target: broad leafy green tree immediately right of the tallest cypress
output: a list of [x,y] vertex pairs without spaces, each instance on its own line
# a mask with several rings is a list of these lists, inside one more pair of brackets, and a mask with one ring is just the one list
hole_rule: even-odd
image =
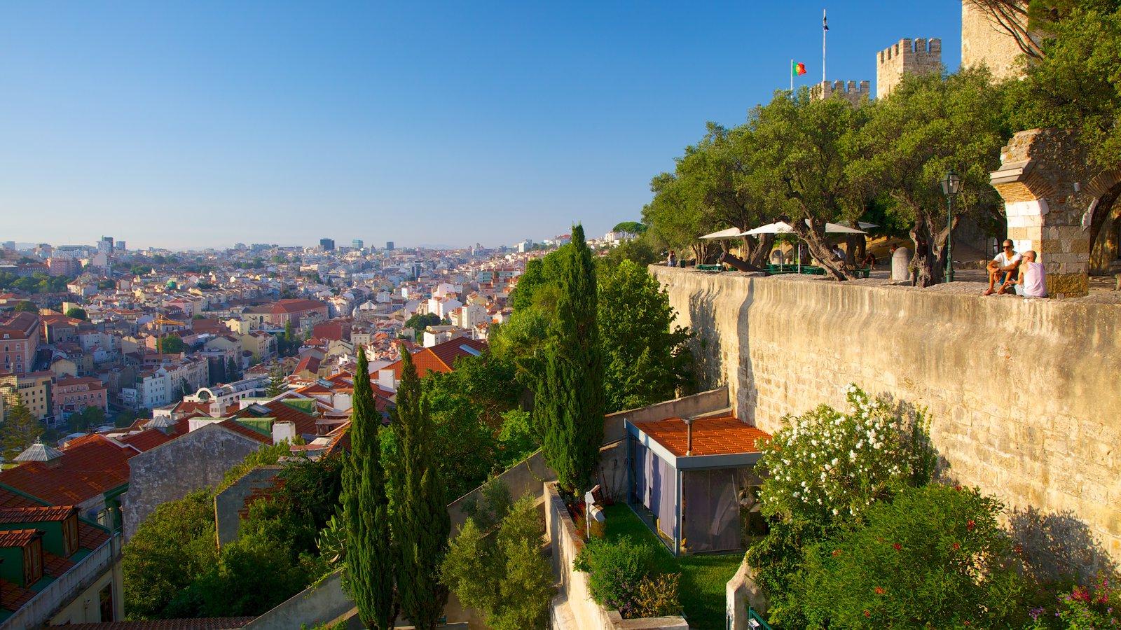
[[669,296],[646,268],[601,267],[597,311],[608,413],[669,400],[692,385],[688,330],[674,325]]

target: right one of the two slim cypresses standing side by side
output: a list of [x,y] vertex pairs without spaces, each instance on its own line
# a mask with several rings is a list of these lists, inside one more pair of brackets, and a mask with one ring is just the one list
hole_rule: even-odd
[[447,552],[452,522],[433,452],[432,417],[421,398],[420,377],[405,348],[393,420],[399,450],[392,488],[397,591],[405,617],[418,629],[427,630],[436,627],[447,603],[439,566]]

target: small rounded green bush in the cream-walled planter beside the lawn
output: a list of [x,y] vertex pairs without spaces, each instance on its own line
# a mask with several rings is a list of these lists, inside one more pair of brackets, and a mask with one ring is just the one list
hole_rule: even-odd
[[642,580],[657,568],[657,549],[624,536],[613,543],[591,539],[576,554],[573,568],[587,574],[587,590],[596,603],[624,618],[637,617],[636,602]]

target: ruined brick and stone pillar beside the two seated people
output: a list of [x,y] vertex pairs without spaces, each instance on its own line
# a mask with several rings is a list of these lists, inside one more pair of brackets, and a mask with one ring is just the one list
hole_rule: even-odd
[[1008,238],[1016,251],[1035,250],[1047,271],[1047,294],[1077,297],[1088,291],[1091,230],[1097,198],[1096,172],[1067,130],[1020,131],[1000,151],[991,182],[1004,200]]

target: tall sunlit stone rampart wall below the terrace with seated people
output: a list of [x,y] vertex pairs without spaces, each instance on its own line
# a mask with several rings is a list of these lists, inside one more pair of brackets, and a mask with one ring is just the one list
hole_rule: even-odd
[[1121,560],[1121,295],[651,270],[741,419],[775,432],[850,382],[925,407],[948,474],[1012,509],[1029,560]]

